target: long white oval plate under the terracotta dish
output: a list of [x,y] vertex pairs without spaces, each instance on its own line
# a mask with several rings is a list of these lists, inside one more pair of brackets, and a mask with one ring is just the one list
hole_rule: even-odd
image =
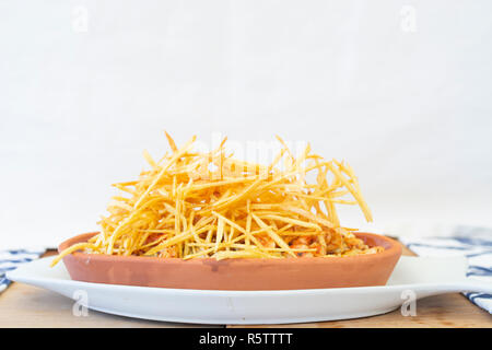
[[[40,287],[96,311],[194,324],[290,324],[378,315],[403,302],[492,285],[467,279],[464,257],[401,257],[387,285],[293,291],[207,291],[72,281],[52,257],[22,265],[8,278]],[[294,277],[293,277],[294,278]]]

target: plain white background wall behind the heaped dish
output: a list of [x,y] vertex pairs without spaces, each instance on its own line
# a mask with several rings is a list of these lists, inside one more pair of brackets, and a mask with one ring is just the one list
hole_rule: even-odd
[[[373,230],[492,225],[492,2],[0,0],[0,248],[96,221],[147,149],[347,160]],[[364,226],[354,209],[347,223]]]

